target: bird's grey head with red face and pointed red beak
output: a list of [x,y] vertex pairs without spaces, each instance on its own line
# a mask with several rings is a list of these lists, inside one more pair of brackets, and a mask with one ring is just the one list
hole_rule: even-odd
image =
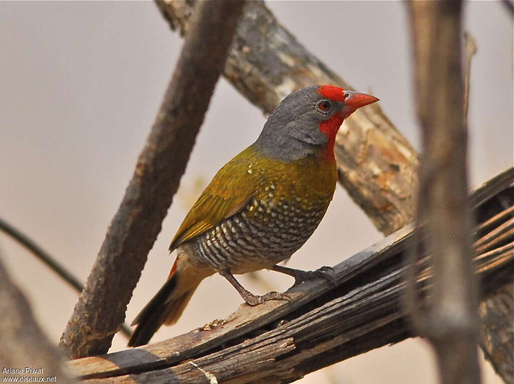
[[288,95],[273,110],[253,144],[263,156],[293,161],[327,152],[334,157],[336,133],[357,108],[378,101],[364,93],[315,85]]

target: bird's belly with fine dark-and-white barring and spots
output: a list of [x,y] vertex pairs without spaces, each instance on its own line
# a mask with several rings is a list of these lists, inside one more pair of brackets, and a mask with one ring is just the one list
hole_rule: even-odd
[[242,274],[270,268],[295,253],[323,218],[332,193],[322,196],[276,196],[263,188],[237,214],[191,242],[196,256],[216,271]]

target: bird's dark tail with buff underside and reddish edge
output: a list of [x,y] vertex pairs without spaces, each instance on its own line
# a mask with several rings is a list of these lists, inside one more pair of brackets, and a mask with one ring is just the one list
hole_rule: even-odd
[[205,277],[191,273],[191,267],[185,268],[184,264],[187,262],[180,263],[177,257],[166,283],[136,316],[131,325],[137,324],[137,327],[128,340],[128,347],[148,344],[162,324],[172,325],[177,322]]

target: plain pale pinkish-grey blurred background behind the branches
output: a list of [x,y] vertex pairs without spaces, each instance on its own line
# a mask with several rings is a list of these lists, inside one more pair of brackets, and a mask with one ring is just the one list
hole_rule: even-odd
[[[267,5],[329,68],[356,90],[380,98],[384,112],[419,149],[405,3]],[[478,44],[469,106],[470,180],[478,186],[513,161],[512,20],[501,2],[467,2],[464,25]],[[153,2],[0,3],[0,216],[83,281],[132,177],[181,45]],[[166,279],[174,260],[167,251],[170,240],[201,189],[256,139],[264,122],[258,109],[219,81],[180,190],[128,305],[127,322]],[[334,265],[381,238],[338,186],[317,232],[288,265],[305,270]],[[2,234],[0,253],[57,343],[77,294]],[[292,284],[285,275],[260,276],[275,290]],[[240,281],[253,293],[267,290],[247,276]],[[224,318],[241,302],[230,284],[213,276],[200,285],[179,322],[162,328],[153,341]],[[116,336],[111,351],[125,343]],[[483,374],[485,383],[501,382],[487,363]],[[435,380],[429,346],[410,339],[299,382]]]

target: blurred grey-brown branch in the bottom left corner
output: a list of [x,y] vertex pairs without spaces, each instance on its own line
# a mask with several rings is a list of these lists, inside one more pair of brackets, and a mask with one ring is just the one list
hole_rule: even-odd
[[[30,305],[9,278],[0,262],[0,369],[2,377],[53,377],[60,383],[74,382],[64,369],[64,358],[36,322]],[[25,372],[43,368],[43,372]],[[22,369],[16,374],[4,369]]]

